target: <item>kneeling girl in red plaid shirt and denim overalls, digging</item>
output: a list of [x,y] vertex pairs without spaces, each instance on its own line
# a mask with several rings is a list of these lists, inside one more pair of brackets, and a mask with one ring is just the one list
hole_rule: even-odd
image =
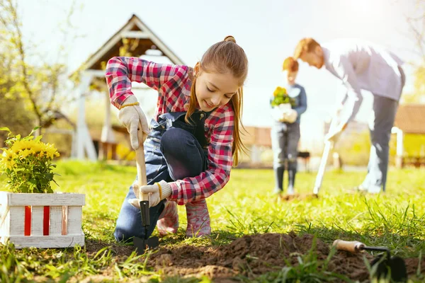
[[[229,180],[232,164],[237,164],[243,148],[242,86],[248,60],[234,37],[215,43],[194,68],[156,64],[135,57],[114,57],[106,67],[111,103],[130,132],[137,149],[137,126],[147,133],[145,161],[150,193],[151,224],[160,235],[176,233],[179,227],[177,204],[186,205],[187,236],[211,233],[205,198],[222,189]],[[137,81],[158,91],[157,109],[150,123],[132,94]],[[115,239],[149,237],[154,225],[144,231],[138,208],[138,187],[130,186],[115,227]]]

